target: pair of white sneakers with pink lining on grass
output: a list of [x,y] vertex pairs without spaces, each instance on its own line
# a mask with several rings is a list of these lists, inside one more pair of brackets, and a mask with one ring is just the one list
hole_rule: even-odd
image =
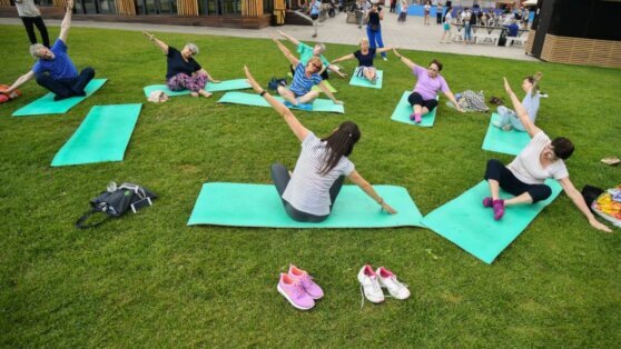
[[361,282],[362,306],[364,306],[364,298],[373,303],[381,303],[385,297],[383,288],[387,289],[391,297],[405,300],[410,298],[410,290],[407,285],[397,280],[397,277],[384,267],[377,268],[376,271],[373,267],[366,265],[362,267],[358,272],[358,281]]

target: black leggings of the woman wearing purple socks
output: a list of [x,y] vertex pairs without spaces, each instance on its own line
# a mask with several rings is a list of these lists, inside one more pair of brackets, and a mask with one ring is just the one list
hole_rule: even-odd
[[526,185],[522,182],[499,160],[492,159],[487,161],[485,180],[490,179],[496,180],[504,191],[513,196],[528,192],[533,199],[533,203],[545,200],[552,195],[552,189],[545,185]]

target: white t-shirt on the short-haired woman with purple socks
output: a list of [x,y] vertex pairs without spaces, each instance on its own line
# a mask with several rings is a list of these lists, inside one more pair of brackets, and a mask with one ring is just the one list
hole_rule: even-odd
[[506,168],[526,185],[542,185],[548,178],[569,177],[568,168],[562,159],[550,163],[545,169],[541,167],[539,156],[550,142],[550,137],[540,131]]

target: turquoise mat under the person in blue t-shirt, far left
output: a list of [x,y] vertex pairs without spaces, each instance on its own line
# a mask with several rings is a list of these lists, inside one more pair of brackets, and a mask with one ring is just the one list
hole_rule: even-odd
[[28,117],[28,116],[41,116],[47,113],[66,113],[69,109],[73,108],[76,104],[82,100],[90,97],[97,90],[99,90],[108,79],[92,79],[85,88],[87,96],[83,97],[71,97],[63,100],[55,101],[55,94],[49,92],[48,94],[34,100],[13,112],[13,117]]

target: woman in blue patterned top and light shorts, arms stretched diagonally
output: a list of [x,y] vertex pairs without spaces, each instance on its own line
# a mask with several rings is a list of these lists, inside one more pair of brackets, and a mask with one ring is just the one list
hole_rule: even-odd
[[[277,39],[273,38],[277,46],[284,44]],[[283,53],[289,60],[293,67],[295,67],[295,73],[292,84],[287,88],[282,83],[278,83],[276,91],[280,97],[285,99],[287,107],[295,106],[300,109],[310,110],[312,103],[317,97],[319,97],[318,91],[313,91],[313,86],[319,87],[319,89],[326,93],[326,96],[332,99],[335,104],[343,104],[342,101],[334,98],[334,94],[322,81],[319,71],[322,71],[322,60],[318,57],[310,57],[308,62],[303,63],[297,57],[293,56],[292,52],[284,47]]]

